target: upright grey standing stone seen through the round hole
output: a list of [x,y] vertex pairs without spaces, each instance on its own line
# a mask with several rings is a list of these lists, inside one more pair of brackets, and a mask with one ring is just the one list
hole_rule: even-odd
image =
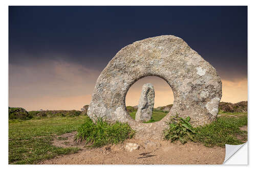
[[147,122],[151,119],[155,100],[155,90],[151,83],[142,86],[138,110],[135,120],[138,122]]

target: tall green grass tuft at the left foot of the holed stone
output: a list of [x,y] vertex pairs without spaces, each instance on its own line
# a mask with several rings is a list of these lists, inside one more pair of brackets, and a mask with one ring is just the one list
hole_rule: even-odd
[[86,116],[84,124],[78,128],[76,140],[85,140],[88,147],[101,147],[105,144],[122,142],[132,138],[135,131],[127,124],[114,124],[103,121],[101,118],[95,123]]

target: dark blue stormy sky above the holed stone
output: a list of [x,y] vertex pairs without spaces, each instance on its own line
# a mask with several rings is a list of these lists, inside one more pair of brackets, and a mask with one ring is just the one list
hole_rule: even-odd
[[[10,98],[16,98],[14,89],[38,82],[40,76],[54,81],[53,61],[98,71],[97,80],[122,47],[160,35],[182,38],[223,80],[247,79],[247,7],[10,6]],[[22,66],[28,70],[20,74]],[[40,66],[46,71],[43,76]]]

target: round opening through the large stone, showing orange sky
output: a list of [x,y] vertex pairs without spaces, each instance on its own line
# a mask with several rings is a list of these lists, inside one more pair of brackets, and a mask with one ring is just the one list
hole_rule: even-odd
[[[154,91],[155,91],[155,98],[153,100],[154,109],[153,109],[152,115],[150,116],[151,117],[150,120],[148,120],[149,118],[147,117],[147,119],[143,118],[142,120],[139,121],[138,117],[136,118],[136,113],[138,109],[140,109],[138,108],[140,107],[138,105],[139,105],[141,95],[143,95],[141,94],[143,85],[147,83],[151,83],[154,87]],[[136,119],[136,121],[139,121],[142,123],[153,123],[161,120],[169,112],[170,108],[173,105],[173,102],[174,102],[174,94],[173,94],[172,88],[168,85],[168,83],[164,79],[157,76],[147,76],[139,79],[129,88],[125,96],[125,107],[127,109],[127,112],[130,114],[130,116],[133,119]],[[145,109],[143,108],[143,106],[141,108],[142,108],[141,110]]]

